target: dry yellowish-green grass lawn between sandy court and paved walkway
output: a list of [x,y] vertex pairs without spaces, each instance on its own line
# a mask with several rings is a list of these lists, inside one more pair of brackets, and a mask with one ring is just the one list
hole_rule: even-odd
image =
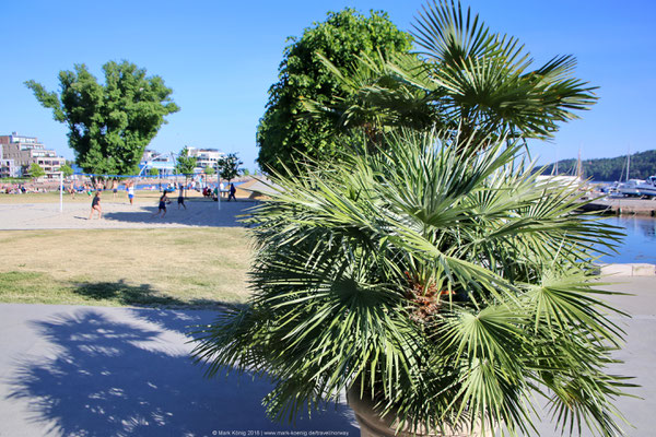
[[0,302],[214,307],[244,303],[244,228],[0,233]]

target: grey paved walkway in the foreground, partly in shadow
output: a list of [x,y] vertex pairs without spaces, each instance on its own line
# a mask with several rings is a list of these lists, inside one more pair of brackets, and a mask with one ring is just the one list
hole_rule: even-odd
[[[656,281],[612,282],[610,288],[636,295],[609,300],[633,316],[621,321],[628,342],[618,357],[626,363],[617,370],[635,376],[642,387],[632,393],[644,398],[618,404],[635,425],[628,436],[651,436]],[[260,404],[267,381],[235,375],[204,379],[190,362],[185,333],[213,317],[212,311],[0,305],[0,436],[359,435],[343,404],[295,427],[276,425]],[[539,429],[542,436],[560,435],[548,423]]]

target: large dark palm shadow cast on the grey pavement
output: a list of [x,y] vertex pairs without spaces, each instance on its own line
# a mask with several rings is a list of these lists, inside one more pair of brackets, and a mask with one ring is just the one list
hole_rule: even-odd
[[273,424],[260,403],[271,389],[267,382],[234,376],[206,379],[179,332],[184,326],[209,322],[215,312],[189,312],[184,318],[150,309],[77,308],[33,321],[31,329],[55,349],[15,363],[5,402],[24,402],[28,421],[45,426],[44,434],[66,436],[291,429],[358,435],[352,413],[343,405],[312,421],[302,417],[295,427]]

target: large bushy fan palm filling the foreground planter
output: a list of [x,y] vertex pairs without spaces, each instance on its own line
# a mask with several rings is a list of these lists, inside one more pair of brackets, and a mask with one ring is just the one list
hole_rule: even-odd
[[622,331],[591,262],[621,234],[576,212],[579,187],[537,182],[519,144],[458,152],[471,141],[401,130],[274,176],[247,220],[254,295],[195,350],[209,375],[268,375],[279,420],[347,389],[408,429],[530,432],[537,394],[563,432],[619,435]]

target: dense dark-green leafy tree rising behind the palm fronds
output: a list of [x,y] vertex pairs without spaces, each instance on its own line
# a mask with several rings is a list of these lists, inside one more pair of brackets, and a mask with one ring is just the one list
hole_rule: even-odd
[[263,170],[294,168],[305,155],[329,160],[340,147],[329,118],[301,117],[305,99],[321,105],[335,103],[348,92],[320,62],[323,54],[338,67],[345,67],[361,54],[406,52],[411,37],[399,31],[384,12],[364,16],[352,9],[328,13],[301,38],[290,38],[279,68],[279,81],[269,90],[269,102],[257,128],[258,163]]

